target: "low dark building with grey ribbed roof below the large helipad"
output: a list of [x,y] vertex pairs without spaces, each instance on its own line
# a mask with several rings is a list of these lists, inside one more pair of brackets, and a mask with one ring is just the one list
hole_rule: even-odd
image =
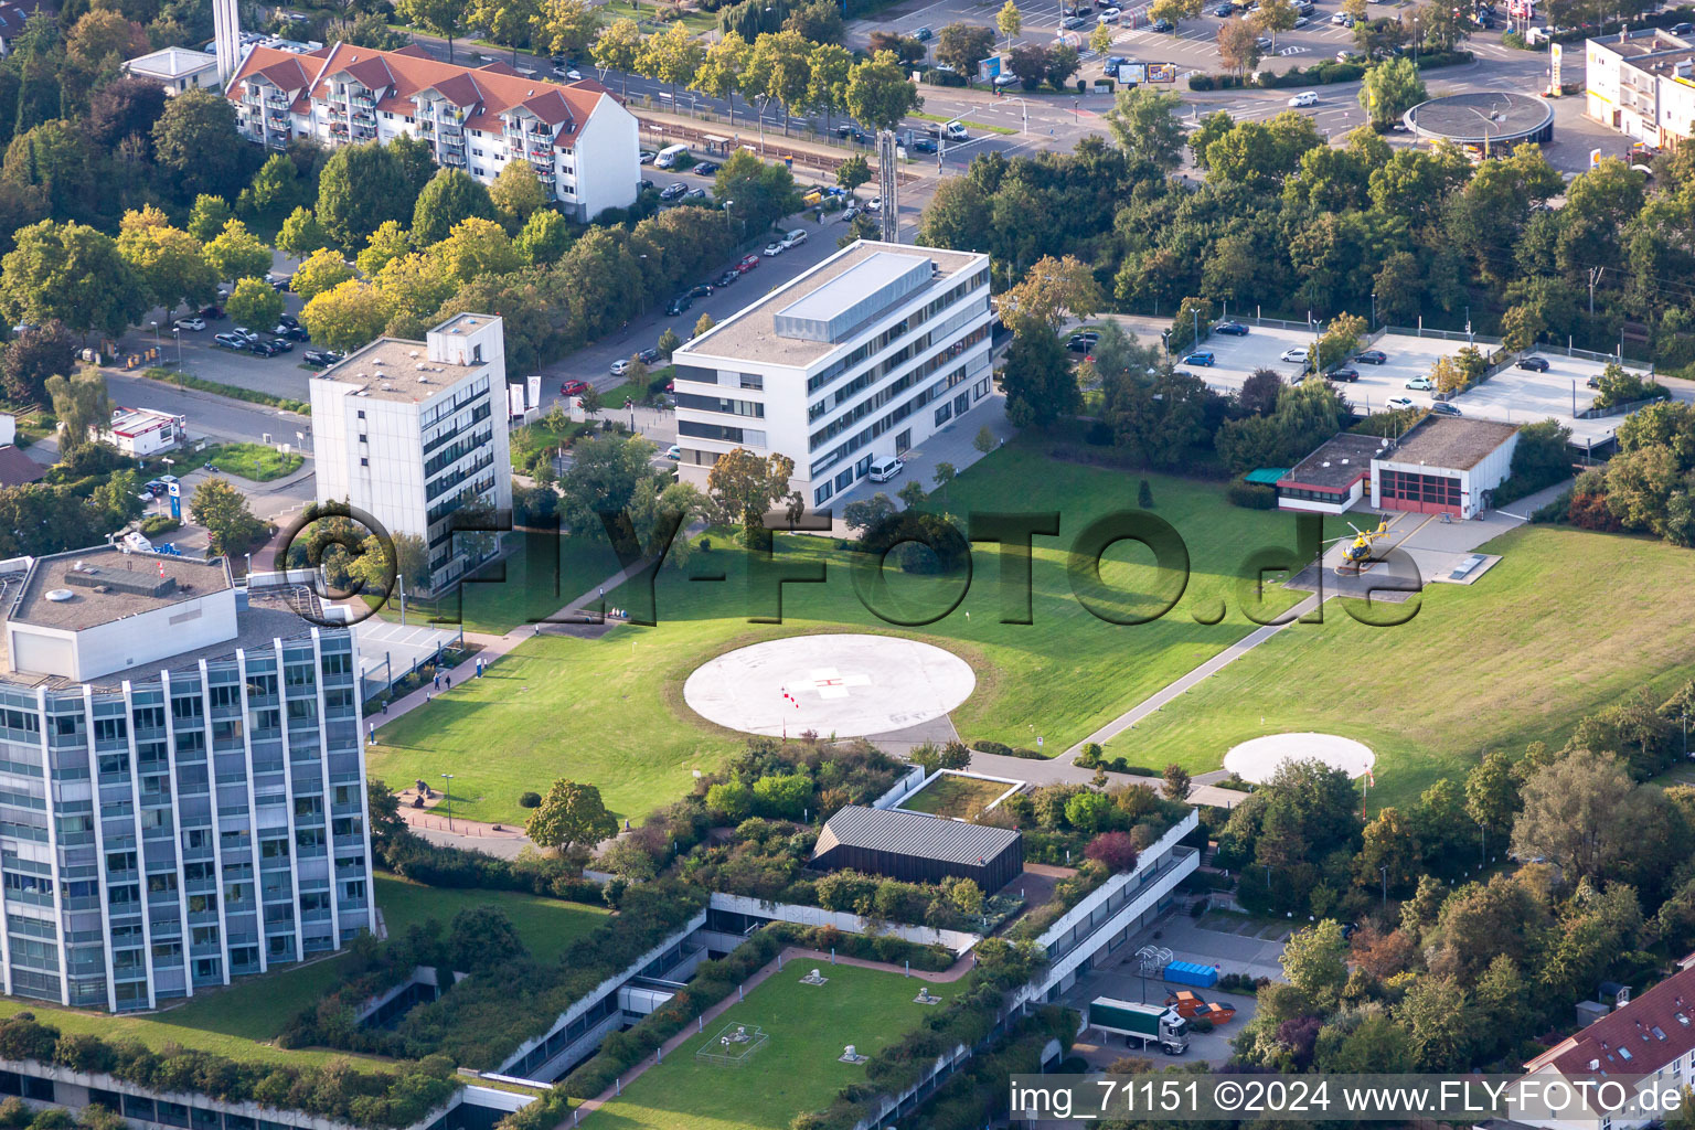
[[1024,837],[1014,828],[848,805],[824,823],[812,866],[851,867],[909,883],[959,876],[993,895],[1024,871]]

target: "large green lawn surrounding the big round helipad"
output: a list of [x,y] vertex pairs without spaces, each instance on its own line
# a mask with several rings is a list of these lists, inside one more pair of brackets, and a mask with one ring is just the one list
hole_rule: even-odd
[[[598,640],[525,640],[483,679],[456,683],[432,705],[383,727],[370,751],[371,773],[390,783],[453,773],[454,810],[475,820],[520,822],[519,795],[542,791],[561,776],[598,784],[615,813],[641,817],[681,796],[693,784],[693,769],[720,766],[741,744],[681,701],[681,684],[697,666],[744,644],[842,627],[922,639],[966,659],[978,684],[954,712],[954,723],[968,740],[1034,747],[1041,735],[1044,749],[1059,752],[1253,630],[1241,615],[1237,574],[1256,549],[1293,546],[1290,515],[1231,507],[1222,485],[1148,476],[1154,513],[1188,544],[1190,579],[1163,618],[1139,625],[1100,620],[1071,591],[1068,549],[1095,518],[1134,510],[1139,478],[1053,463],[1039,449],[1009,444],[953,483],[939,505],[954,515],[1061,513],[1059,537],[1036,539],[1029,625],[1000,623],[993,544],[976,547],[975,576],[958,608],[927,627],[902,629],[861,605],[849,554],[812,535],[780,537],[776,564],[822,568],[825,583],[785,584],[783,622],[753,623],[749,617],[776,612],[771,566],[759,562],[751,586],[747,556],[714,534],[712,551],[697,552],[686,573],[661,574],[656,627],[624,625]],[[1139,544],[1117,542],[1105,554],[1102,576],[1119,595],[1102,603],[1119,615],[1156,610],[1159,601],[1151,595],[1164,581],[1151,562]],[[614,568],[602,557],[600,576]],[[531,566],[508,566],[512,579],[488,586],[490,593],[468,591],[468,625],[563,603],[551,591],[539,600],[537,586],[524,583],[525,569]],[[688,579],[705,573],[725,579]],[[593,574],[588,569],[563,588],[575,596],[593,588]],[[902,610],[903,618],[934,615],[956,590],[956,581],[892,569],[880,608]],[[1168,596],[1171,591],[1175,586],[1166,588]],[[1273,590],[1270,600],[1287,607],[1290,598]],[[641,607],[629,593],[609,593],[607,601]],[[1222,622],[1203,623],[1219,615]]]

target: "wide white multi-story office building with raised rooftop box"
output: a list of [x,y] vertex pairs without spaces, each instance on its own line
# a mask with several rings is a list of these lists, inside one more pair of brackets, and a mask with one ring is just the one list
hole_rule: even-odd
[[990,390],[988,256],[859,241],[676,351],[685,481],[744,447],[822,507]]

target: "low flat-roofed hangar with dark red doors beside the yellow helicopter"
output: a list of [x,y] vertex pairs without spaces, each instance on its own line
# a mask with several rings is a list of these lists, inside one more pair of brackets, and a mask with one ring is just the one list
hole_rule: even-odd
[[1371,505],[1378,510],[1473,518],[1512,474],[1519,427],[1498,420],[1424,417],[1371,459]]

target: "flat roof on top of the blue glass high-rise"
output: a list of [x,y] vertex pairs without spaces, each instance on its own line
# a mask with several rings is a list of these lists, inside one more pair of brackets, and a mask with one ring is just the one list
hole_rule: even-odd
[[[7,620],[81,632],[232,586],[222,557],[76,549],[36,559]],[[69,593],[69,600],[51,600],[49,593]]]

